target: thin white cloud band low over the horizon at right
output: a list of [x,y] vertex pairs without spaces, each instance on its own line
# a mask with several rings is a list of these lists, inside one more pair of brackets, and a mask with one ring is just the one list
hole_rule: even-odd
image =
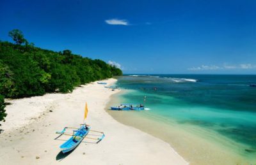
[[192,67],[188,68],[189,71],[202,71],[202,70],[218,70],[218,69],[255,69],[256,65],[252,64],[239,64],[239,65],[228,65],[228,64],[223,64],[223,66],[216,66],[216,65],[202,65],[198,67]]

